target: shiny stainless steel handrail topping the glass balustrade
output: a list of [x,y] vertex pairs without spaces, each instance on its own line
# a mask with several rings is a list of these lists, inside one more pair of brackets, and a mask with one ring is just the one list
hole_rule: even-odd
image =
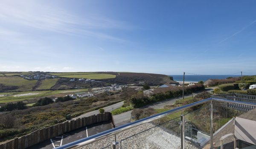
[[145,118],[143,118],[141,120],[137,120],[137,121],[134,121],[134,122],[131,122],[131,123],[128,123],[128,124],[125,124],[125,125],[122,125],[122,126],[110,129],[110,130],[107,130],[105,132],[101,132],[101,133],[98,133],[96,135],[92,135],[92,136],[87,137],[87,138],[76,140],[74,142],[65,144],[63,146],[56,147],[55,149],[76,149],[76,148],[85,146],[87,144],[93,143],[95,141],[102,140],[102,139],[107,138],[107,137],[109,137],[111,135],[116,135],[116,134],[118,134],[120,132],[123,132],[123,131],[125,131],[127,129],[131,129],[131,128],[135,127],[135,126],[139,126],[139,125],[142,125],[144,123],[148,123],[148,122],[151,122],[153,120],[157,120],[157,119],[159,119],[161,117],[164,117],[166,115],[169,115],[169,114],[172,114],[172,113],[175,113],[175,112],[179,112],[179,111],[191,108],[193,106],[197,106],[197,105],[200,105],[202,103],[206,103],[208,101],[219,101],[219,102],[227,102],[227,103],[239,103],[239,104],[243,104],[243,105],[253,105],[253,106],[256,106],[256,103],[247,103],[247,102],[241,102],[241,101],[226,100],[226,99],[218,98],[218,97],[211,97],[211,98],[207,98],[207,99],[204,99],[204,100],[200,100],[200,101],[195,102],[195,103],[187,104],[185,106],[180,106],[180,107],[177,107],[175,109],[168,110],[166,112],[162,112],[162,113],[159,113],[159,114],[156,114],[156,115],[145,117]]

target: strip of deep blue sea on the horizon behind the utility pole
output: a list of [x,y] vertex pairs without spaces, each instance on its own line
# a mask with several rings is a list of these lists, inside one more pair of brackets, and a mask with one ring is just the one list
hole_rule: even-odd
[[[183,75],[169,75],[175,81],[183,81]],[[185,81],[198,82],[200,80],[206,81],[208,79],[226,79],[227,77],[240,77],[241,75],[189,75],[185,74]]]

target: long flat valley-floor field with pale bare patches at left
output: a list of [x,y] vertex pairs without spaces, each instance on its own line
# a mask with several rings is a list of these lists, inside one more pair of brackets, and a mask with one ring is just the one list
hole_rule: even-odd
[[[88,89],[70,89],[70,90],[58,90],[58,91],[31,91],[31,92],[15,92],[15,93],[1,93],[0,95],[9,95],[0,97],[0,103],[17,102],[22,100],[29,100],[38,97],[45,97],[50,95],[62,94],[62,93],[76,93],[76,92],[88,92]],[[31,95],[25,95],[31,94]],[[17,96],[24,95],[24,96]]]

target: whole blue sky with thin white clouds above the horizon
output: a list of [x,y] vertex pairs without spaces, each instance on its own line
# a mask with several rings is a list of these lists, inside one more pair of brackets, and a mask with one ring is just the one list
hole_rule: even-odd
[[2,0],[0,71],[256,72],[255,0]]

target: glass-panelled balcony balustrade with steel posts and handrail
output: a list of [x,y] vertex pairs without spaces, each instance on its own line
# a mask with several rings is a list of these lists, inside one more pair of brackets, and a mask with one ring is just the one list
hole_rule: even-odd
[[[255,101],[256,96],[249,95],[212,96],[56,149],[253,149],[256,148]],[[241,115],[222,125],[216,114],[221,110]],[[180,117],[170,119],[169,115],[177,112]],[[205,116],[201,120],[194,121],[193,117],[202,114]],[[201,130],[196,128],[197,124],[202,124]]]

